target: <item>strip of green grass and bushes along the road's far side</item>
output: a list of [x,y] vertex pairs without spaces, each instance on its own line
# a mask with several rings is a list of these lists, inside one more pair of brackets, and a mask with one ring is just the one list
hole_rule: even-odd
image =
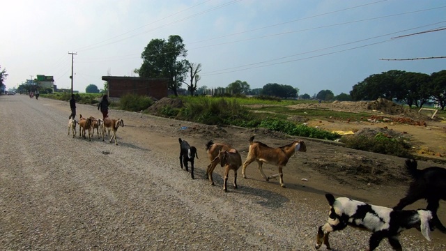
[[[95,104],[100,100],[101,94],[77,93],[79,103]],[[43,95],[58,100],[70,99],[70,93],[54,93]],[[289,105],[302,103],[316,103],[317,100],[276,100],[274,98],[245,98],[233,97],[206,97],[206,96],[178,96],[170,97],[183,102],[183,107],[163,106],[157,111],[157,116],[171,119],[193,121],[206,125],[240,126],[243,128],[266,128],[287,135],[298,137],[311,137],[315,139],[337,140],[351,149],[371,151],[399,157],[410,158],[410,144],[403,139],[385,137],[382,133],[374,137],[341,137],[341,135],[312,128],[305,125],[305,121],[294,122],[289,120],[293,116],[302,116],[311,119],[351,119],[360,121],[369,116],[367,113],[336,112],[328,109],[291,109]],[[116,109],[132,112],[146,112],[155,102],[148,97],[128,94],[119,101],[112,102]],[[148,112],[146,112],[148,113]],[[438,111],[438,116],[446,116],[445,111]]]

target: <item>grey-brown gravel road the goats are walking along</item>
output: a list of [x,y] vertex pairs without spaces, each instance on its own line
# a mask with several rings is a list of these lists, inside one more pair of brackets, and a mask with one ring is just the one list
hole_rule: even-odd
[[[151,146],[169,134],[163,119],[143,115],[151,130],[139,135],[141,114],[112,110],[125,122],[115,146],[68,136],[69,114],[68,102],[0,96],[0,250],[314,250],[325,199],[243,180],[241,170],[239,189],[230,174],[225,193],[221,170],[216,186],[180,170],[178,141],[170,152]],[[90,105],[79,114],[100,116]],[[331,245],[366,250],[369,236],[348,228]],[[400,239],[404,250],[445,250],[415,229]]]

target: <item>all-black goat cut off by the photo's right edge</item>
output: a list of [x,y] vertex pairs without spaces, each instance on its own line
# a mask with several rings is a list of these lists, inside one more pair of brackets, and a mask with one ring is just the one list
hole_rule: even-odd
[[438,219],[437,211],[440,199],[446,200],[446,169],[441,167],[427,167],[417,169],[416,160],[406,160],[404,163],[414,181],[410,183],[406,197],[401,199],[394,209],[401,210],[419,199],[427,200],[426,210],[432,212],[433,227],[437,227],[446,234],[446,228]]

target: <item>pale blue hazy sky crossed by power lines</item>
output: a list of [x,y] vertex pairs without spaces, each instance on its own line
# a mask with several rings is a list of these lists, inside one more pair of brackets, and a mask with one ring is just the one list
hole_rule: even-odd
[[102,76],[137,77],[148,43],[171,35],[183,38],[185,59],[201,63],[199,87],[241,80],[251,89],[277,83],[300,95],[339,95],[388,70],[446,69],[446,59],[420,59],[446,56],[444,0],[0,0],[0,6],[6,89],[36,75],[70,89],[72,67],[75,90],[103,89]]

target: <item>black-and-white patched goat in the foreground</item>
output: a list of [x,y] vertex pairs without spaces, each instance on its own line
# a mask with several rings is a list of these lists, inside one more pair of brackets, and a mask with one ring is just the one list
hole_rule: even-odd
[[370,251],[375,250],[383,238],[387,238],[394,250],[402,250],[398,236],[401,231],[413,227],[421,231],[426,240],[431,241],[429,238],[431,211],[394,210],[346,197],[334,199],[331,194],[326,194],[325,197],[330,204],[330,216],[325,225],[318,227],[316,249],[321,248],[322,243],[327,249],[331,249],[328,242],[330,232],[344,229],[348,225],[373,233],[369,239]]

